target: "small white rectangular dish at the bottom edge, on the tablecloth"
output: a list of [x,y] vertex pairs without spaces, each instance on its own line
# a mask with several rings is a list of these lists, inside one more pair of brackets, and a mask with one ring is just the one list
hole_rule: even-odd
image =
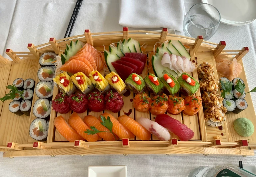
[[127,177],[126,165],[89,166],[88,177]]

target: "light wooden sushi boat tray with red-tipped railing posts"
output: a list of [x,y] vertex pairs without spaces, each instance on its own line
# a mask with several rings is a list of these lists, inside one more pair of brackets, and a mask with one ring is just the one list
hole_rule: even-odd
[[[145,34],[148,33],[148,34]],[[108,46],[111,43],[133,38],[136,39],[141,45],[146,45],[146,51],[152,52],[155,43],[163,43],[166,40],[179,40],[183,45],[189,47],[189,54],[191,60],[195,60],[197,57],[198,65],[202,62],[208,62],[214,66],[214,72],[216,80],[217,75],[215,58],[225,57],[232,60],[236,58],[242,65],[242,58],[249,51],[247,47],[242,50],[224,50],[226,43],[221,41],[219,44],[204,41],[202,36],[198,36],[197,39],[184,37],[174,34],[168,34],[167,29],[163,28],[162,32],[133,30],[129,31],[127,27],[124,27],[123,31],[104,32],[104,33],[91,33],[90,30],[85,30],[85,33],[78,36],[68,37],[65,39],[55,40],[50,38],[48,43],[35,46],[34,44],[28,44],[29,52],[14,52],[11,49],[6,50],[6,54],[13,60],[0,56],[0,97],[3,97],[5,93],[9,92],[5,86],[12,85],[16,78],[32,78],[35,80],[35,84],[39,82],[37,78],[37,71],[40,68],[39,57],[45,52],[55,52],[57,55],[63,54],[66,49],[66,44],[70,41],[76,41],[79,39],[84,43],[89,43],[97,50],[104,52],[104,46]],[[231,52],[231,53],[230,53]],[[23,58],[21,60],[21,58]],[[145,70],[145,69],[144,69]],[[144,75],[146,72],[143,72]],[[142,75],[143,75],[142,73]],[[197,71],[192,73],[198,81]],[[248,92],[248,84],[245,76],[245,71],[239,75],[243,79]],[[58,88],[54,87],[53,98],[58,94]],[[200,90],[196,92],[197,96],[200,96]],[[133,112],[130,117],[135,120],[143,117],[153,116],[150,113],[142,113],[133,109],[130,99],[133,98],[133,94],[124,96],[125,105],[122,110],[128,112],[132,109]],[[38,99],[34,92],[32,106]],[[166,155],[184,155],[184,154],[203,154],[203,155],[254,155],[253,149],[256,147],[256,131],[249,137],[242,137],[236,133],[233,127],[233,122],[239,117],[247,117],[254,124],[256,129],[256,115],[253,108],[251,95],[247,94],[246,101],[248,103],[247,109],[239,114],[226,114],[226,123],[223,125],[223,129],[219,130],[216,127],[210,127],[205,125],[203,109],[201,108],[194,116],[187,116],[183,113],[178,115],[171,115],[171,117],[179,120],[181,123],[187,125],[194,131],[194,137],[189,141],[179,141],[178,137],[171,133],[172,139],[170,141],[159,141],[154,135],[151,136],[149,141],[141,141],[135,137],[132,139],[123,139],[119,141],[97,141],[86,142],[78,140],[75,142],[68,142],[54,126],[54,118],[57,115],[61,115],[54,110],[51,110],[49,130],[47,141],[39,142],[32,139],[29,135],[29,126],[31,122],[36,118],[31,109],[30,116],[22,115],[18,116],[9,111],[8,106],[10,100],[0,102],[0,151],[4,152],[3,157],[20,157],[20,156],[56,156],[56,155],[95,155],[95,154],[166,154]],[[114,117],[118,117],[124,114],[124,111],[113,113]],[[79,114],[80,117],[85,115],[94,115],[98,117],[102,112],[89,112]],[[63,117],[68,120],[69,115],[62,114]],[[217,137],[217,138],[216,138]],[[220,138],[219,138],[220,137]]]

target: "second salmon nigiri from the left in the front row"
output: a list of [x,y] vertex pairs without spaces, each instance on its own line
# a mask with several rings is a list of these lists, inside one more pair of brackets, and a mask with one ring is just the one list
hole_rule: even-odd
[[92,130],[89,126],[85,124],[85,122],[79,117],[79,115],[74,112],[71,114],[69,117],[69,124],[72,128],[78,132],[80,136],[85,138],[87,141],[97,141],[99,139],[99,135],[94,134],[94,135],[88,135],[87,133],[84,133],[87,129]]

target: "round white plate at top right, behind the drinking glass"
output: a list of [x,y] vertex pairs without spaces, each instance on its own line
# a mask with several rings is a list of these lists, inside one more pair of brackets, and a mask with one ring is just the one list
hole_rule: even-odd
[[221,23],[241,26],[256,19],[256,0],[202,0],[216,7],[221,16]]

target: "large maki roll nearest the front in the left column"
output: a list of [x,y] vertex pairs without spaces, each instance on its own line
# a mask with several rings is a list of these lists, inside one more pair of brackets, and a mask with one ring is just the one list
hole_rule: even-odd
[[37,141],[46,141],[48,135],[49,122],[45,119],[36,118],[29,127],[29,135]]

